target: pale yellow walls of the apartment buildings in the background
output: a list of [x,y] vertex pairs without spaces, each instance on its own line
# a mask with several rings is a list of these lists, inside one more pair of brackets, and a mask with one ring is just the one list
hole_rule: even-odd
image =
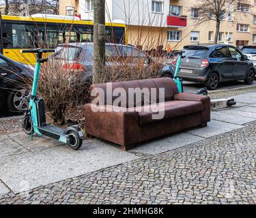
[[[221,32],[229,31],[232,33],[232,40],[229,44],[236,46],[237,40],[246,40],[248,44],[253,44],[253,34],[256,34],[256,25],[253,24],[253,15],[256,15],[256,5],[254,5],[254,0],[248,0],[251,3],[250,13],[235,12],[233,14],[233,22],[229,22],[227,19],[221,22]],[[79,0],[60,0],[60,14],[66,13],[66,6],[76,5],[76,10],[79,13],[79,8],[77,7]],[[199,43],[212,43],[208,40],[209,31],[213,32],[212,40],[214,40],[215,26],[216,22],[210,21],[203,23],[198,26],[198,19],[191,18],[191,7],[196,7],[197,0],[170,0],[170,5],[180,5],[182,6],[182,15],[188,17],[187,27],[175,28],[175,27],[138,27],[130,26],[128,27],[128,44],[142,45],[143,50],[150,50],[151,48],[156,48],[158,45],[164,46],[166,48],[168,45],[175,50],[180,50],[184,45],[195,44],[197,42],[190,41],[190,32],[199,31]],[[166,18],[166,15],[164,19]],[[248,33],[241,33],[236,31],[237,23],[249,25]],[[181,31],[180,42],[171,42],[167,40],[168,30],[178,30]],[[223,42],[219,42],[223,43]]]

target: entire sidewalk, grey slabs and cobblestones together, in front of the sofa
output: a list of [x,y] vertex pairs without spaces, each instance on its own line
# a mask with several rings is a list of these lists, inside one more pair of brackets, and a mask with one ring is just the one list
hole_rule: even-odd
[[[0,136],[0,204],[256,204],[256,93],[205,128],[121,151]],[[3,128],[4,129],[4,128]]]

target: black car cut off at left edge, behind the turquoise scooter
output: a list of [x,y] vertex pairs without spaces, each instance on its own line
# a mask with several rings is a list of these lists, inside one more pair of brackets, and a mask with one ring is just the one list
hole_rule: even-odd
[[0,108],[20,112],[27,108],[29,90],[25,81],[33,76],[31,67],[12,61],[0,54]]

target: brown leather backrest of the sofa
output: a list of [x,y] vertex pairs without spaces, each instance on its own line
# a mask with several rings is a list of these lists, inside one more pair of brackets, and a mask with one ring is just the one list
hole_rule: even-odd
[[[120,93],[117,96],[113,96],[113,91],[116,90],[118,93],[119,89],[117,88],[122,88],[122,90],[124,90],[126,93],[126,108],[131,108],[134,106],[143,106],[143,105],[152,104],[152,103],[171,101],[173,100],[174,95],[178,93],[177,86],[173,81],[173,79],[171,78],[152,78],[152,79],[145,79],[145,80],[129,80],[124,82],[99,83],[99,84],[91,85],[90,91],[95,89],[94,92],[98,93],[98,88],[104,91],[104,99],[100,98],[100,104],[105,104],[105,105],[106,104],[113,105],[113,102],[115,101],[115,99],[121,96]],[[137,95],[134,94],[133,102],[128,101],[128,96],[130,95],[129,91],[131,91],[131,89],[129,90],[129,88],[133,88],[133,89],[139,88],[135,90]],[[143,88],[147,88],[147,89],[143,89]],[[160,88],[164,89],[164,93],[165,93],[164,99],[161,99],[161,96],[159,97]],[[149,90],[149,92],[147,90]],[[108,95],[111,95],[111,98],[107,96],[106,94],[107,91],[109,92]],[[156,97],[152,97],[152,93],[154,92],[156,92]],[[124,94],[122,95],[124,96]],[[102,95],[91,96],[91,101],[93,101],[96,97],[102,97]],[[153,100],[156,102],[152,102],[152,99],[156,99],[156,100]],[[118,105],[118,106],[124,106],[124,105]]]

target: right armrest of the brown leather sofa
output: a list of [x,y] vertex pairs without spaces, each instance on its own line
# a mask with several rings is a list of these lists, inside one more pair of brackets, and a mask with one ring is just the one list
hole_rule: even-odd
[[211,102],[209,96],[190,93],[179,93],[177,95],[174,95],[174,100],[201,102],[203,104],[202,123],[207,123],[210,121]]

